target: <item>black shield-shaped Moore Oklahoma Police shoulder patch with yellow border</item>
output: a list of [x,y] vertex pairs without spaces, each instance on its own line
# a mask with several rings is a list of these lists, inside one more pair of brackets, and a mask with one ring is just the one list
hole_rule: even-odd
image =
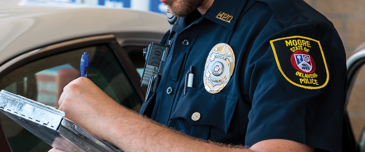
[[320,89],[330,78],[322,46],[315,39],[291,36],[270,41],[277,66],[293,85]]

